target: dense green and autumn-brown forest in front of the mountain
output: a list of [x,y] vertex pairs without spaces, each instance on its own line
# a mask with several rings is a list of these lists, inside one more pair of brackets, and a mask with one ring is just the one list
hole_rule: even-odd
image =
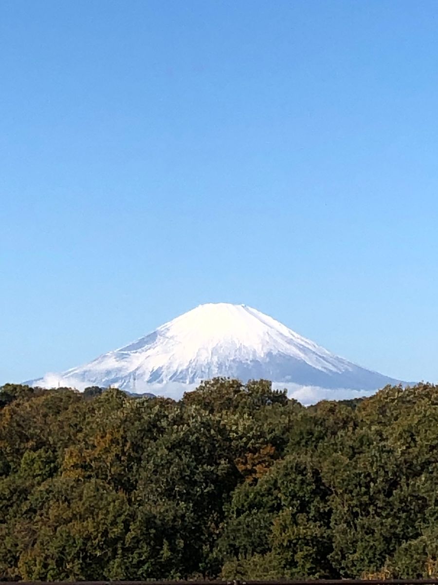
[[0,388],[0,579],[438,577],[438,386]]

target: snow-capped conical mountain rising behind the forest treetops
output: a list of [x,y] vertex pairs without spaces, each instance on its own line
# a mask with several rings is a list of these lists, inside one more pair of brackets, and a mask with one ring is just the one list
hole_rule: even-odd
[[272,380],[273,387],[287,388],[303,404],[369,395],[400,383],[334,355],[256,309],[211,303],[84,366],[29,384],[113,386],[180,398],[216,376]]

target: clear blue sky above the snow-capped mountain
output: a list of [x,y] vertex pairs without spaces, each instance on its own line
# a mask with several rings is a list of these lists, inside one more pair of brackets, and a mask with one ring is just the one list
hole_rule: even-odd
[[0,383],[204,302],[438,380],[436,1],[3,0]]

